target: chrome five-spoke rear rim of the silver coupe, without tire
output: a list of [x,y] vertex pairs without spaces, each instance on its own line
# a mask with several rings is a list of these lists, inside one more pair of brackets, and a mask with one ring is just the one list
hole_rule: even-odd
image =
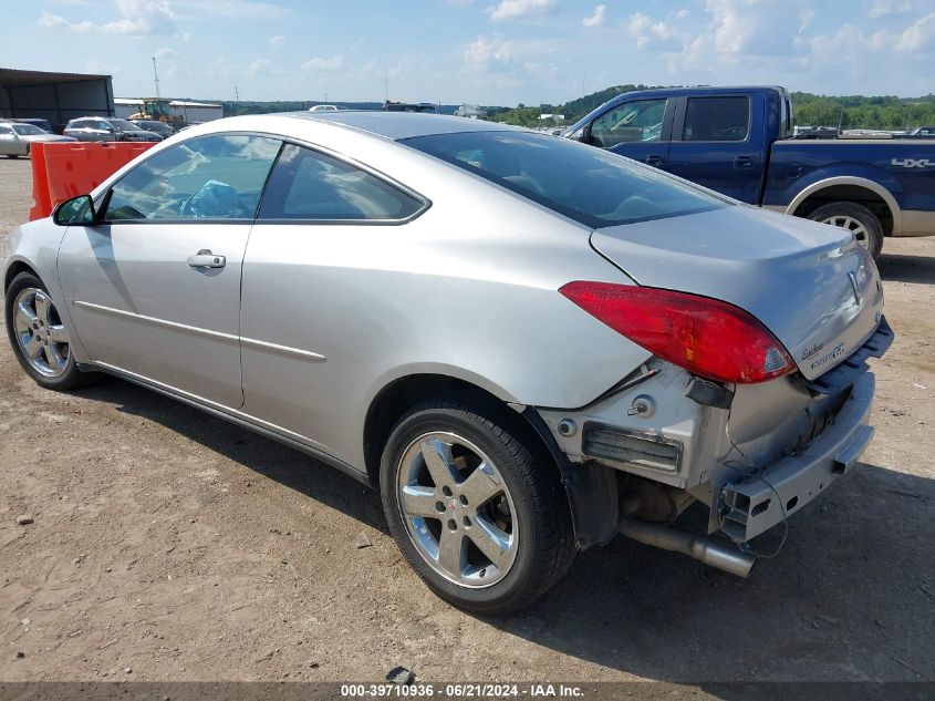
[[489,587],[510,571],[519,546],[502,475],[470,441],[426,433],[396,472],[399,512],[419,555],[446,579]]

